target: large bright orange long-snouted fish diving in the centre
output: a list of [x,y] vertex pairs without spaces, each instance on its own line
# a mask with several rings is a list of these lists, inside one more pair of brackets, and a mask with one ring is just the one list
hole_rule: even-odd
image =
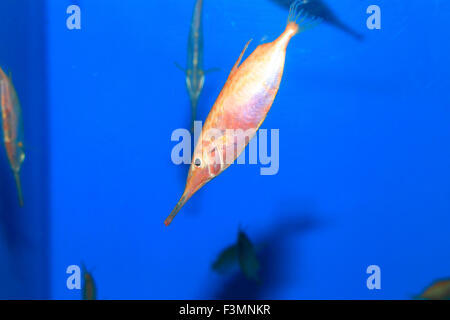
[[275,41],[258,46],[239,65],[250,41],[245,46],[206,118],[194,150],[186,188],[165,220],[166,226],[197,190],[234,162],[266,118],[283,76],[289,41],[318,23],[304,14],[302,5],[302,0],[295,1],[285,31]]

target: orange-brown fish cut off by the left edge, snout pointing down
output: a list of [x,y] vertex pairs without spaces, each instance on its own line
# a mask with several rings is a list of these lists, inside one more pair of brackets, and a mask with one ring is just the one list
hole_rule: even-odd
[[19,205],[23,206],[20,169],[25,160],[22,111],[11,76],[0,68],[0,104],[2,109],[3,141],[9,164],[16,180]]

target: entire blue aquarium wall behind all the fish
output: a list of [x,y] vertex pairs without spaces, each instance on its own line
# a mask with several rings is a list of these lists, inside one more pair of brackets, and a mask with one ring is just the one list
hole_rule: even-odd
[[[185,75],[194,0],[2,1],[0,65],[25,123],[25,206],[0,156],[0,298],[410,299],[450,276],[450,43],[443,1],[325,1],[364,36],[322,23],[287,48],[263,129],[279,171],[233,165],[169,227],[187,166]],[[67,8],[81,8],[69,30]],[[369,30],[367,7],[381,8]],[[204,121],[245,43],[285,28],[275,0],[204,0]],[[7,49],[5,49],[7,48]],[[243,230],[261,283],[212,264]],[[367,268],[381,270],[370,290]]]

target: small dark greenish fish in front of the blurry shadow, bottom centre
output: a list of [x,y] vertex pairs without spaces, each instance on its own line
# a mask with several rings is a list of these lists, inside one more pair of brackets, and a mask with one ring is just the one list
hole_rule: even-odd
[[236,244],[223,250],[212,268],[217,273],[223,274],[230,272],[237,265],[248,280],[260,282],[260,263],[256,248],[242,230],[238,232]]

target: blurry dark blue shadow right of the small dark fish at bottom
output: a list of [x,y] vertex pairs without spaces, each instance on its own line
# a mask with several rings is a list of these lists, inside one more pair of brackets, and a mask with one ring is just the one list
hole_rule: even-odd
[[[262,238],[253,241],[258,250],[261,266],[260,283],[250,281],[242,272],[236,271],[213,293],[213,299],[265,299],[270,292],[282,288],[294,280],[292,279],[293,275],[289,274],[289,270],[287,270],[287,266],[292,267],[288,260],[289,256],[299,255],[301,252],[298,248],[294,248],[293,240],[317,229],[321,223],[310,213],[296,215],[277,213],[277,215],[284,217],[283,220]],[[301,270],[299,265],[295,268]],[[295,275],[295,281],[298,281],[297,275],[298,273]]]

